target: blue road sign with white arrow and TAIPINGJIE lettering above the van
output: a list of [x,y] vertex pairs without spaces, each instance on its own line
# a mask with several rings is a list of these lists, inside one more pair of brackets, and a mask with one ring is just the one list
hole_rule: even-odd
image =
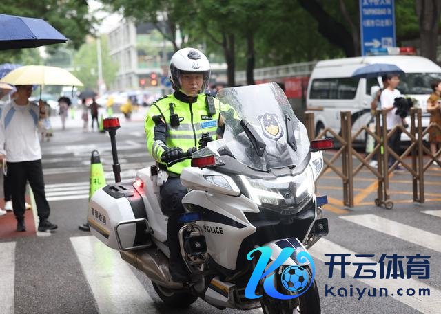
[[361,55],[371,48],[396,47],[393,0],[360,0]]

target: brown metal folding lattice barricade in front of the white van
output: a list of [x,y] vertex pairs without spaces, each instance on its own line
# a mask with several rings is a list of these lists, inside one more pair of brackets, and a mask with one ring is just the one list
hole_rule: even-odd
[[[410,132],[402,124],[398,124],[391,130],[387,130],[386,124],[387,111],[378,110],[375,112],[376,116],[376,128],[375,133],[369,129],[368,126],[363,126],[352,135],[352,123],[351,112],[340,112],[341,128],[340,134],[337,134],[331,128],[325,128],[315,136],[314,130],[314,113],[305,113],[305,124],[307,126],[307,132],[309,139],[321,138],[328,133],[334,137],[334,141],[340,143],[340,148],[331,159],[324,157],[325,168],[322,170],[322,174],[327,169],[331,169],[342,179],[343,183],[343,204],[348,207],[353,207],[353,178],[358,175],[358,172],[365,167],[377,178],[378,188],[375,204],[377,206],[383,206],[387,209],[393,208],[393,202],[390,199],[389,194],[389,175],[399,164],[402,164],[409,174],[412,176],[413,186],[413,201],[418,203],[424,203],[424,172],[429,168],[432,161],[441,163],[437,158],[441,155],[441,149],[438,150],[435,155],[432,155],[428,150],[422,139],[424,135],[427,135],[430,128],[438,128],[441,131],[441,126],[438,124],[430,124],[424,131],[422,130],[421,122],[421,109],[411,109],[411,128]],[[380,123],[380,121],[382,123]],[[367,155],[363,156],[353,148],[353,141],[365,132],[366,135],[370,135],[376,142],[373,150]],[[398,134],[397,134],[398,133]],[[404,150],[404,153],[398,155],[389,146],[389,142],[393,136],[400,136],[401,133],[405,133],[409,137],[411,144]],[[427,164],[424,164],[424,153],[429,155],[430,160]],[[373,168],[369,164],[372,157],[377,155],[378,168]],[[389,164],[389,155],[395,159],[392,164]],[[407,164],[404,159],[411,156],[411,165]],[[334,162],[339,158],[342,158],[342,169],[338,169]],[[353,157],[360,161],[355,168],[353,168]]]

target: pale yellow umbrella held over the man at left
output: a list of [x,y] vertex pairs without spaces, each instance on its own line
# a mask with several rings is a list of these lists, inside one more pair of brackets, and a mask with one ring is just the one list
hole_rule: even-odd
[[12,85],[67,85],[83,86],[73,74],[61,67],[45,65],[25,65],[4,76],[0,82]]

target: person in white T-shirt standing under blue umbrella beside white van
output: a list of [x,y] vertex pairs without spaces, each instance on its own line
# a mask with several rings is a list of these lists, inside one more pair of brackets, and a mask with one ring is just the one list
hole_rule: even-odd
[[[393,106],[395,102],[395,98],[401,97],[400,91],[396,89],[398,84],[400,84],[400,78],[398,78],[398,74],[387,74],[387,88],[384,89],[380,96],[381,108],[384,111],[387,111],[386,114],[386,128],[387,132],[393,129],[398,124],[402,124],[402,119],[400,115],[396,115],[396,107]],[[396,130],[393,135],[389,138],[388,145],[392,148],[392,150],[399,154],[400,152],[400,138],[401,131]],[[393,158],[389,154],[388,166],[390,167],[393,162],[395,162],[395,158]],[[398,170],[402,169],[400,166],[397,167]]]

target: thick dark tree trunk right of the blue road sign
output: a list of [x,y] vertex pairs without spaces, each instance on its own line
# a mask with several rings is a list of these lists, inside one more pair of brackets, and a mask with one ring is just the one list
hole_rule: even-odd
[[420,54],[436,62],[441,0],[417,0],[416,13],[420,23]]

